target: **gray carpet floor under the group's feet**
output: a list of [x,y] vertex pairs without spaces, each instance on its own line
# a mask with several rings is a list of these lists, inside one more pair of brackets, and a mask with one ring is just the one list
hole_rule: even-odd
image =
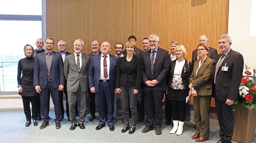
[[[191,139],[194,135],[194,119],[187,117],[184,124],[184,130],[182,135],[170,134],[172,126],[166,126],[165,120],[162,125],[162,134],[155,135],[155,130],[148,133],[142,133],[141,130],[146,126],[146,119],[143,123],[137,124],[136,131],[133,134],[121,133],[124,127],[122,124],[121,113],[117,114],[117,120],[115,121],[115,130],[109,131],[109,127],[101,130],[95,130],[98,125],[98,117],[92,122],[88,121],[89,115],[85,117],[85,129],[77,127],[75,130],[69,130],[71,122],[65,118],[61,121],[61,128],[55,129],[55,114],[54,110],[50,110],[49,126],[45,129],[39,129],[39,126],[43,121],[38,122],[38,126],[25,127],[25,115],[23,110],[2,110],[0,111],[0,142],[3,143],[77,143],[77,142],[89,142],[89,143],[195,143],[195,140]],[[164,116],[163,116],[163,119]],[[214,143],[219,140],[219,125],[217,120],[210,120],[210,138],[209,143]],[[233,141],[236,143],[235,141]],[[253,141],[254,143],[255,140]]]

